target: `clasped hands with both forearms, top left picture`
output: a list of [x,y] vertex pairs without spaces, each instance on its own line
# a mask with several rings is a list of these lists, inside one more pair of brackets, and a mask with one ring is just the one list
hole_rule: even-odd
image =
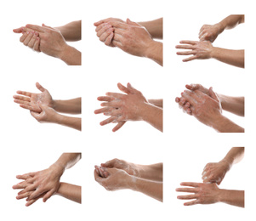
[[22,33],[20,42],[37,52],[42,51],[44,54],[61,59],[67,65],[81,65],[81,53],[65,42],[65,39],[68,41],[81,39],[81,21],[74,21],[58,28],[44,24],[43,26],[26,25],[14,29],[14,33]]

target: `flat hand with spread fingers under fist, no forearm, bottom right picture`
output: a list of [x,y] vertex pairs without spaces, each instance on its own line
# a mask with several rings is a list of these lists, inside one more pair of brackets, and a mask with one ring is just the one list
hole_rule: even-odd
[[184,206],[196,204],[212,204],[219,201],[219,188],[217,184],[200,184],[200,183],[181,183],[182,186],[191,186],[192,188],[177,188],[178,192],[194,193],[192,195],[179,195],[179,200],[192,200],[185,202]]

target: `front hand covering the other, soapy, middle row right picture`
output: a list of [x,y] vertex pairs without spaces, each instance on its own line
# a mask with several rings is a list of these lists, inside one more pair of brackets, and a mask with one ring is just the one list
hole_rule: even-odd
[[218,123],[222,116],[222,107],[217,94],[213,92],[213,88],[209,88],[209,95],[203,94],[199,90],[194,92],[185,90],[181,94],[191,104],[192,115],[198,121],[213,127],[213,124]]

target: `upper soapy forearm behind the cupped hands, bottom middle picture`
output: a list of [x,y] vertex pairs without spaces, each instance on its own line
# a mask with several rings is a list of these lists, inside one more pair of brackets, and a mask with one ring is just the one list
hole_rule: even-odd
[[137,165],[139,178],[162,182],[162,162],[151,165]]

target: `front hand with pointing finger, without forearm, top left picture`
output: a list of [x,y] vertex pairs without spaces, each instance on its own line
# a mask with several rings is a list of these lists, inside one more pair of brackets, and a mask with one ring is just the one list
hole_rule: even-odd
[[65,42],[65,38],[61,35],[60,31],[50,26],[34,26],[26,25],[33,31],[37,31],[40,37],[40,50],[44,54],[48,54],[55,58],[61,59],[68,45]]

